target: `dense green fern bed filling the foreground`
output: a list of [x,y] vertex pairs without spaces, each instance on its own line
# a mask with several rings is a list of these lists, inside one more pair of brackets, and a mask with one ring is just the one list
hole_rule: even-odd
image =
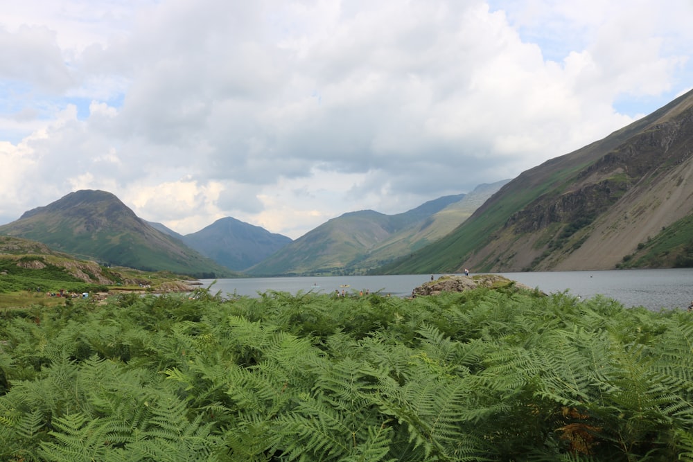
[[603,297],[1,313],[3,461],[692,461],[693,321]]

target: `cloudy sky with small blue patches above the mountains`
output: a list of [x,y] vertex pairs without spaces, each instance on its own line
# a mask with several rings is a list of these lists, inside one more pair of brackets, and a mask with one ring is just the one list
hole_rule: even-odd
[[693,86],[691,0],[3,3],[0,224],[101,189],[179,233],[298,238],[516,177]]

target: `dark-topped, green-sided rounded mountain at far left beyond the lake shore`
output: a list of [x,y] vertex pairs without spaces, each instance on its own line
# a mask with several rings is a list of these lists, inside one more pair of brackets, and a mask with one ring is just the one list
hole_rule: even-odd
[[79,190],[27,211],[19,220],[0,226],[0,234],[43,242],[52,249],[107,265],[196,277],[233,274],[157,231],[116,196],[100,190]]

